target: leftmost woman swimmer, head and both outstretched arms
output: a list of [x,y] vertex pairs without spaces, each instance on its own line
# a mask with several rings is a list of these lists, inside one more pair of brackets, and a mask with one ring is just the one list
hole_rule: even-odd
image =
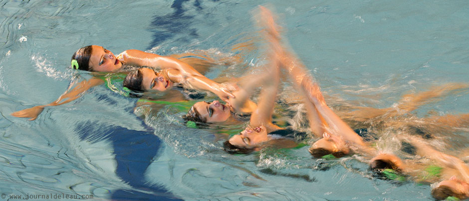
[[[140,50],[126,50],[116,57],[111,51],[104,47],[89,45],[78,49],[71,58],[71,67],[73,69],[89,72],[116,72],[121,69],[123,65],[146,66],[165,70],[167,78],[171,78],[171,84],[168,80],[160,77],[154,79],[154,83],[157,84],[156,86],[162,86],[165,90],[171,87],[173,82],[185,81],[190,83],[194,89],[213,92],[222,100],[227,100],[229,97],[234,98],[234,95],[224,86],[208,79],[191,65],[174,57],[160,56]],[[103,83],[103,80],[93,77],[92,79],[78,83],[56,101],[16,111],[11,113],[11,115],[34,120],[42,112],[44,107],[57,106],[74,101],[88,89]],[[152,84],[152,86],[155,86],[155,84]]]

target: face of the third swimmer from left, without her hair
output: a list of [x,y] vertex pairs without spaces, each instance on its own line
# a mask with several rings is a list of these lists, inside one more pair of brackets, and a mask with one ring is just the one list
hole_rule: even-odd
[[194,104],[194,109],[200,113],[205,122],[223,122],[231,116],[230,106],[220,103],[220,101],[200,101]]

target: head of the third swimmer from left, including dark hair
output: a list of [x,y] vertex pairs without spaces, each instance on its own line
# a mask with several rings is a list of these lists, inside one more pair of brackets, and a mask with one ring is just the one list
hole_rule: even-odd
[[200,101],[191,107],[186,116],[193,118],[197,122],[224,122],[232,116],[230,110],[229,105],[222,104],[220,101]]

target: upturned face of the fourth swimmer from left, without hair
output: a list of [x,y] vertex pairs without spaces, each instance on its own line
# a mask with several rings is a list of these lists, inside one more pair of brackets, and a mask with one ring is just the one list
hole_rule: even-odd
[[267,131],[264,126],[255,128],[246,127],[239,134],[234,135],[228,140],[231,144],[239,148],[254,148],[259,143],[266,142]]

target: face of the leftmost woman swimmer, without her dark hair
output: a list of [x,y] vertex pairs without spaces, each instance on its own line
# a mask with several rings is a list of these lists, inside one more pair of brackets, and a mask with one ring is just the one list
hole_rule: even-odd
[[101,46],[92,45],[89,67],[96,72],[111,72],[122,67],[114,54]]

